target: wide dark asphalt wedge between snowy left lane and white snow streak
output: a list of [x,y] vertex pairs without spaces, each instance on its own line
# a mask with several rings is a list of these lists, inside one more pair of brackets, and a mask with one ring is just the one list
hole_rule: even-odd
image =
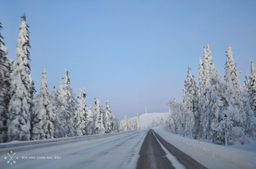
[[150,129],[139,152],[137,168],[174,168]]

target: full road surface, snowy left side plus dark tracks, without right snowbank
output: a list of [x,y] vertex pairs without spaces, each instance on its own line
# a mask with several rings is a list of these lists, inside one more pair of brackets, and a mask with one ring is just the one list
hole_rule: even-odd
[[152,129],[3,143],[1,168],[205,168]]

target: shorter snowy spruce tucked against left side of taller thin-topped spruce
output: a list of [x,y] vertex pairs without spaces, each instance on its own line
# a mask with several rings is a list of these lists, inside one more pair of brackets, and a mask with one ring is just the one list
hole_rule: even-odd
[[65,90],[63,89],[62,82],[58,90],[58,109],[56,111],[55,119],[55,137],[68,137],[70,129],[70,113],[66,110]]

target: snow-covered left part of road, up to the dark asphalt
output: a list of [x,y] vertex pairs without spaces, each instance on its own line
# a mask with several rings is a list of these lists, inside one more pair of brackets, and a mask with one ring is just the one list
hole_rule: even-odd
[[32,145],[29,142],[25,145],[6,144],[8,147],[0,146],[0,166],[1,168],[136,168],[139,150],[147,131],[137,130],[103,137],[53,140],[54,142],[46,141],[39,144],[31,142]]

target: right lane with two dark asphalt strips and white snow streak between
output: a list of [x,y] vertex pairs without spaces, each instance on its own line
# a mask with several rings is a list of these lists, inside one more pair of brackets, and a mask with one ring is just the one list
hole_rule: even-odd
[[147,133],[139,155],[137,168],[206,168],[152,129]]

